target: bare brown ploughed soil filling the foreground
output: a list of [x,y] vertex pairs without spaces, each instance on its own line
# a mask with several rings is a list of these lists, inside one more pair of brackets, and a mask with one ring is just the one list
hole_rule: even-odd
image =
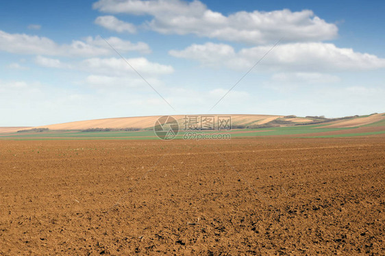
[[0,255],[384,255],[385,137],[1,141]]

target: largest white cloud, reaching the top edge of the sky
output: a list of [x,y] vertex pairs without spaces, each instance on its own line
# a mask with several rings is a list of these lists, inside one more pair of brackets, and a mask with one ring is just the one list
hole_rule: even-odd
[[153,16],[147,21],[147,27],[162,34],[195,34],[250,44],[266,44],[280,38],[286,41],[330,40],[338,34],[336,25],[314,16],[311,10],[256,10],[225,16],[209,10],[197,0],[100,0],[93,8],[114,14]]

